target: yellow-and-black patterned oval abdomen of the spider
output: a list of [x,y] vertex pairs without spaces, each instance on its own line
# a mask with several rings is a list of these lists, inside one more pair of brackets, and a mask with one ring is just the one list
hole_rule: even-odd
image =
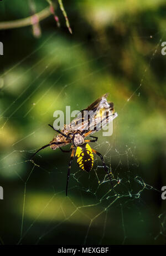
[[89,144],[84,143],[76,147],[75,157],[81,170],[90,172],[94,165],[94,154]]

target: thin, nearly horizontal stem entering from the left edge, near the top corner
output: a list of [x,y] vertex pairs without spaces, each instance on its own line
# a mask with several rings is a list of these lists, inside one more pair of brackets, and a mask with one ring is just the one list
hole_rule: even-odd
[[[50,7],[46,7],[41,12],[38,12],[35,15],[38,16],[38,21],[42,21],[43,19],[51,16]],[[0,22],[0,30],[30,26],[33,25],[32,21],[33,16],[29,16],[24,19],[16,19],[15,21]]]

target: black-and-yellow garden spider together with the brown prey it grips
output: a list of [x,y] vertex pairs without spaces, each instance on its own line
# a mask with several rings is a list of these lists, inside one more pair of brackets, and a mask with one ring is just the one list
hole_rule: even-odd
[[[107,173],[111,181],[110,173],[108,172],[102,155],[98,153],[95,149],[92,149],[89,145],[89,142],[96,142],[98,139],[97,137],[90,134],[96,132],[97,130],[100,130],[101,123],[102,127],[104,127],[108,123],[110,123],[115,117],[117,117],[117,113],[115,113],[113,109],[113,103],[107,102],[107,95],[108,94],[103,95],[101,98],[98,98],[94,103],[92,103],[89,107],[82,110],[81,113],[70,124],[65,124],[65,126],[61,130],[56,130],[53,126],[49,124],[49,126],[59,134],[56,135],[56,137],[54,137],[49,144],[44,145],[32,155],[33,158],[34,155],[37,154],[40,150],[49,146],[53,150],[55,150],[56,148],[60,148],[62,152],[71,152],[66,182],[66,195],[68,195],[70,168],[74,157],[76,158],[77,164],[79,165],[79,168],[81,170],[90,172],[94,165],[93,153],[97,154],[101,158],[105,172]],[[93,113],[91,116],[89,116],[89,111],[92,111],[91,113]],[[82,113],[84,113],[83,117]],[[85,139],[89,135],[94,139]],[[68,145],[70,143],[70,150],[64,150],[61,148],[64,145]]]

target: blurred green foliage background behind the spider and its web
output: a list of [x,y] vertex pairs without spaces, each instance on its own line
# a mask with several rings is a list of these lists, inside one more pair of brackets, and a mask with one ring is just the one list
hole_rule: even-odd
[[[34,2],[37,12],[48,6]],[[121,244],[124,238],[125,244],[164,244],[165,229],[158,234],[166,204],[160,199],[166,185],[165,1],[63,3],[72,35],[58,3],[61,27],[53,16],[44,19],[38,39],[31,26],[0,31],[0,236],[11,244],[19,237],[23,244],[82,244],[92,221],[87,244]],[[30,15],[28,1],[0,5],[1,21]],[[113,135],[98,132],[95,147],[122,180],[116,186],[121,196],[100,200],[109,184],[97,189],[95,172],[80,173],[73,164],[66,198],[69,155],[47,148],[34,163],[30,155],[53,138],[47,124],[55,110],[84,109],[107,92],[118,117]],[[97,163],[96,172],[104,175]]]

